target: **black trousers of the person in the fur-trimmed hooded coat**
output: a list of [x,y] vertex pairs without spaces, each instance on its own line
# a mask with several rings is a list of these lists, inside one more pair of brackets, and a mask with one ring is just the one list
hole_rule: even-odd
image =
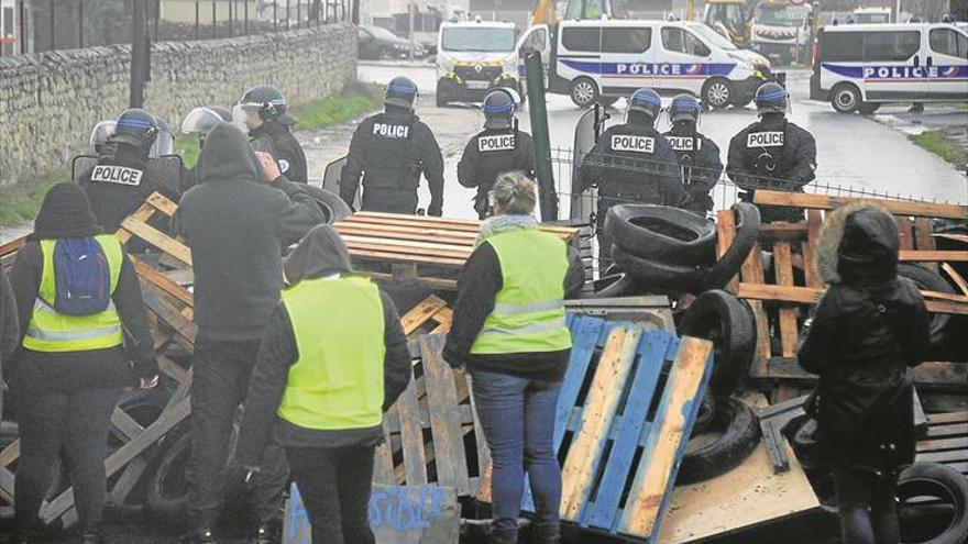
[[846,466],[833,474],[844,544],[898,544],[897,476]]

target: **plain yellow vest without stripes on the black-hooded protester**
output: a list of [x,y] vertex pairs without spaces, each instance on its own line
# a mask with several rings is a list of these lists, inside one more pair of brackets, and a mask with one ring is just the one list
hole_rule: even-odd
[[289,368],[279,418],[306,429],[367,429],[383,422],[383,302],[365,278],[304,279],[283,291],[299,359]]

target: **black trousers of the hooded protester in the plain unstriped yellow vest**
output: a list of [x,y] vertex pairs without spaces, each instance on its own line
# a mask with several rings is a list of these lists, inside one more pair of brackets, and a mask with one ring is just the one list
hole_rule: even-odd
[[287,447],[315,544],[374,544],[370,491],[374,446]]

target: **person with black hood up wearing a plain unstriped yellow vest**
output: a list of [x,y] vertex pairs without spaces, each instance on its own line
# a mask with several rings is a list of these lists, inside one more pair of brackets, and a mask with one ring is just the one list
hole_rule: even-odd
[[373,543],[369,501],[383,412],[406,389],[410,354],[393,301],[354,276],[339,234],[320,225],[286,262],[244,404],[237,458],[256,471],[286,448],[312,542]]

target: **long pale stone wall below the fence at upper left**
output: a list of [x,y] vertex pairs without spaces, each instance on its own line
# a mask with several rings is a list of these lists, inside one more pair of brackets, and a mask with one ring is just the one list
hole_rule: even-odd
[[[128,107],[128,46],[0,57],[0,185],[69,167],[90,130]],[[356,74],[351,24],[226,40],[162,42],[152,49],[145,108],[177,131],[206,104],[231,107],[255,85],[290,104],[340,91]],[[2,196],[0,196],[2,206]]]

